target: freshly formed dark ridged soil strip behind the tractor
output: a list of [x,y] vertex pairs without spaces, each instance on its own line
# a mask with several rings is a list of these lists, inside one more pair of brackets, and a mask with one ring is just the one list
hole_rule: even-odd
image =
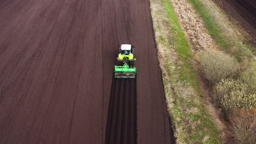
[[137,144],[136,79],[113,76],[105,144]]

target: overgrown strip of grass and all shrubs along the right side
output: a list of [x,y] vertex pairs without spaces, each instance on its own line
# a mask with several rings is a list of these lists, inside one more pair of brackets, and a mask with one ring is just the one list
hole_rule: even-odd
[[[200,68],[212,84],[212,100],[223,111],[229,143],[256,143],[256,48],[248,33],[211,0],[188,0],[218,49],[199,56]],[[211,55],[211,56],[210,56]]]

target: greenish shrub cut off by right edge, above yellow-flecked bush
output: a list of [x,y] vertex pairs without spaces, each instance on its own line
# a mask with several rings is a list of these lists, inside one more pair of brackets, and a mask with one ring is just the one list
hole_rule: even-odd
[[256,62],[251,62],[249,68],[242,72],[242,79],[251,92],[256,91]]

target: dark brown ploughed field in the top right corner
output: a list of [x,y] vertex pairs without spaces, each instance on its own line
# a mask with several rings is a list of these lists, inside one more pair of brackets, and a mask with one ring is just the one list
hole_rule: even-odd
[[256,41],[256,0],[213,0],[238,23]]

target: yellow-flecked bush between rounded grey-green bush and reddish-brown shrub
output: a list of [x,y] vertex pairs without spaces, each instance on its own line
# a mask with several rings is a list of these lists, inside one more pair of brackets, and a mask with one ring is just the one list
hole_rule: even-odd
[[214,87],[215,101],[220,103],[226,115],[234,109],[249,109],[256,106],[256,94],[240,79],[223,79]]

